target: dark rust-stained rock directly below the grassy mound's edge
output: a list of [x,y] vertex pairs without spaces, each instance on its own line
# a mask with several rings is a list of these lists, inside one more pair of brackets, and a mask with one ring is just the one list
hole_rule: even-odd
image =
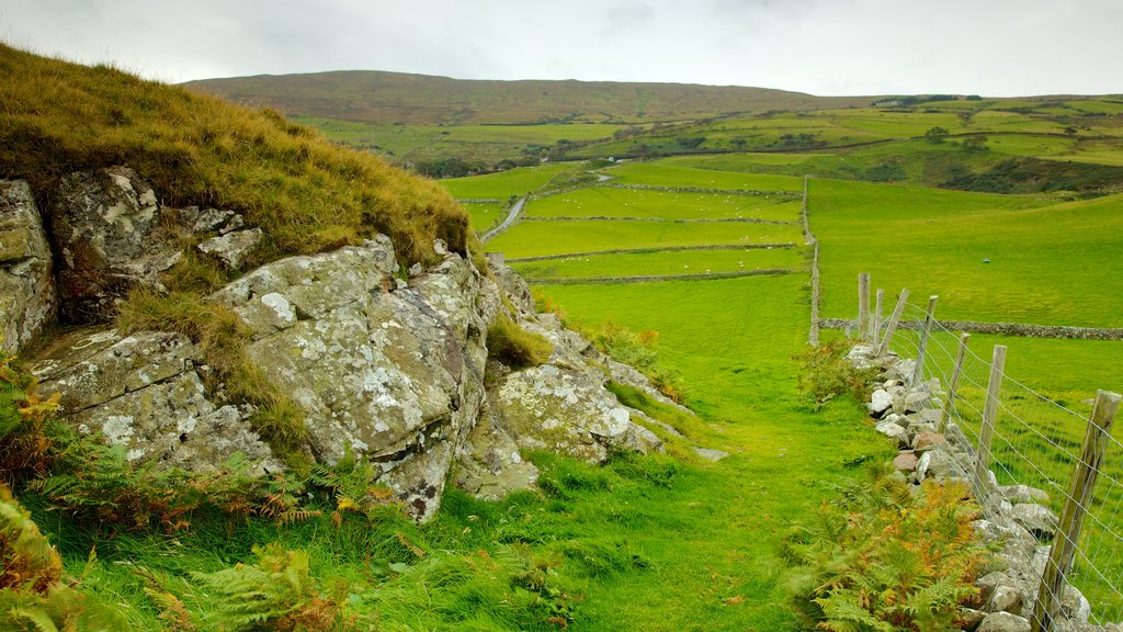
[[128,168],[63,177],[49,211],[60,307],[72,322],[109,318],[134,287],[163,290],[159,273],[182,256],[156,193]]

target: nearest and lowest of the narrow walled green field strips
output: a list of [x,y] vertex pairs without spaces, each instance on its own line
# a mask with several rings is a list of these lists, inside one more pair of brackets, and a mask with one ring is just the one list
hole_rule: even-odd
[[802,264],[803,255],[797,249],[640,252],[510,263],[527,279],[700,274],[706,271],[795,269]]

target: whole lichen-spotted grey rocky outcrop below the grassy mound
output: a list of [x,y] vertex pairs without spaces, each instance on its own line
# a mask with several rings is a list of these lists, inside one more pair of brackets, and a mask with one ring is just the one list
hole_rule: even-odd
[[[162,208],[126,168],[65,177],[52,199],[72,323],[106,319],[131,288],[163,291],[161,273],[183,247],[238,270],[265,238],[235,213]],[[538,472],[522,451],[603,462],[617,451],[661,450],[637,423],[642,413],[605,388],[615,379],[661,398],[641,374],[536,314],[510,270],[500,268],[496,282],[440,242],[435,252],[441,259],[412,265],[407,280],[393,244],[378,236],[267,263],[207,297],[238,317],[247,361],[299,408],[308,455],[368,460],[378,481],[427,520],[448,480],[486,498],[533,485]],[[501,312],[550,341],[547,363],[512,371],[489,360],[487,331]],[[79,329],[37,360],[42,388],[62,394],[69,421],[130,461],[211,471],[240,454],[258,475],[284,467],[253,430],[264,412],[229,400],[221,376],[182,334]]]

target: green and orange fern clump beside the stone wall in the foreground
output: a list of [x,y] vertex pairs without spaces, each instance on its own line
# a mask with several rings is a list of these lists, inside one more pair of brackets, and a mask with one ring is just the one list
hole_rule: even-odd
[[791,584],[809,628],[850,631],[949,630],[989,553],[970,522],[967,488],[926,481],[913,495],[884,473],[840,488],[814,524],[786,542],[798,565]]

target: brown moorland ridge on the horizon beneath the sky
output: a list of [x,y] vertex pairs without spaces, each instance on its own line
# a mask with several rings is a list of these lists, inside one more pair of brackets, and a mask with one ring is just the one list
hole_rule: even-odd
[[874,97],[814,97],[765,88],[606,81],[466,81],[378,71],[258,75],[184,87],[285,115],[363,123],[657,121],[729,112],[868,106]]

